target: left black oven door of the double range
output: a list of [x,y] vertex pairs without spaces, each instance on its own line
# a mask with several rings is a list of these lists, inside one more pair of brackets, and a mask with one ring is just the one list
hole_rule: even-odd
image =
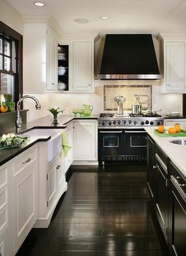
[[104,160],[105,156],[121,156],[124,154],[124,131],[119,130],[99,130],[99,160]]

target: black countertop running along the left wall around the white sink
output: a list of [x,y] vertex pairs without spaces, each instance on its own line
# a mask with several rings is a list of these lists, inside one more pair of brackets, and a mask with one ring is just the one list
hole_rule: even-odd
[[[65,129],[65,127],[68,125],[68,123],[75,119],[76,120],[98,119],[98,117],[99,117],[99,115],[91,115],[89,117],[75,117],[74,115],[61,115],[61,116],[59,116],[59,123],[57,125],[54,125],[50,121],[51,115],[47,115],[41,119],[35,119],[32,122],[27,122],[27,123],[22,124],[20,134],[24,134],[25,131],[31,130],[33,128]],[[9,130],[4,130],[0,133],[0,136],[2,136],[2,134],[9,134],[9,133],[16,134],[16,129],[12,128]],[[48,141],[48,140],[50,140],[50,136],[29,137],[29,139],[27,141],[25,141],[23,143],[23,145],[20,145],[20,147],[18,147],[18,148],[0,150],[0,165],[5,164],[7,161],[13,159],[13,157],[19,155],[21,152],[24,152],[24,150],[32,147],[32,145],[35,145],[35,143],[37,143],[39,141]]]

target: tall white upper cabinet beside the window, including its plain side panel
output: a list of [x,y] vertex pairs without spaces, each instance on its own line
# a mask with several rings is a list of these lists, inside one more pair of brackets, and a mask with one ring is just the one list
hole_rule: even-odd
[[24,94],[58,90],[58,41],[47,20],[24,17]]

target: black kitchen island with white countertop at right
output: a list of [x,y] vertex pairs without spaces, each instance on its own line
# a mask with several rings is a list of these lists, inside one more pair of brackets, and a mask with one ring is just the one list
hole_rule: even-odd
[[171,143],[185,137],[161,137],[147,131],[147,186],[169,252],[184,256],[186,246],[186,146]]

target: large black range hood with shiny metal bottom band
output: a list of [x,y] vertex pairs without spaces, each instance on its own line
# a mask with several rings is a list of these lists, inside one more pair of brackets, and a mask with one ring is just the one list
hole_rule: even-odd
[[150,34],[106,35],[99,79],[160,79]]

